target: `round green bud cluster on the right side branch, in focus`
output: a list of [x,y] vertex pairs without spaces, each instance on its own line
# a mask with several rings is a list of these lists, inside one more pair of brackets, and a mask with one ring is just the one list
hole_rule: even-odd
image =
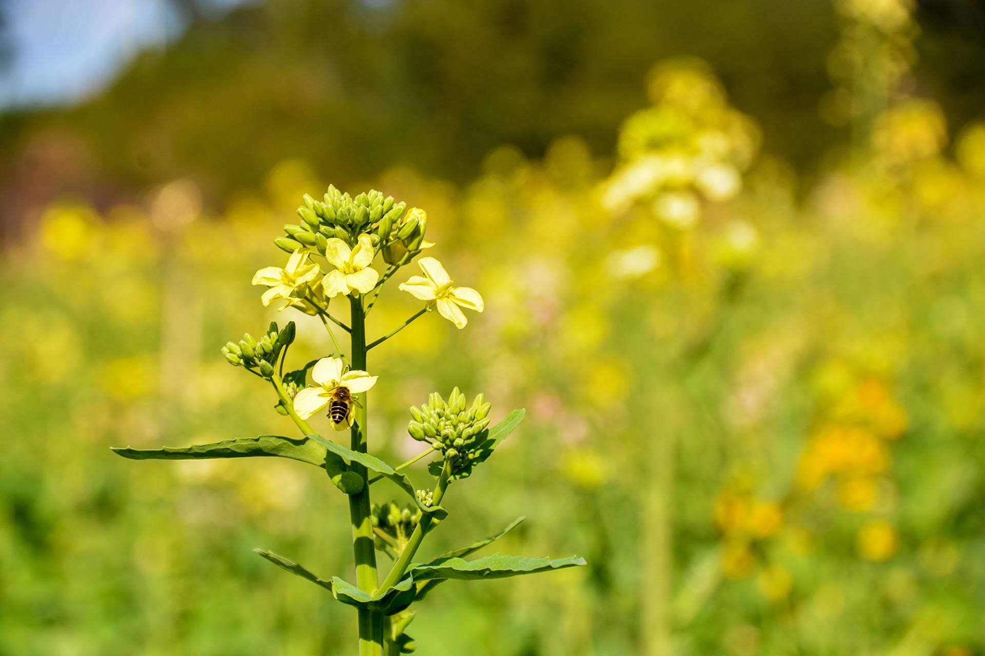
[[434,391],[427,403],[411,407],[414,419],[407,425],[407,432],[415,440],[440,449],[455,472],[479,456],[479,447],[486,442],[491,408],[483,394],[476,396],[466,409],[465,394],[458,388],[451,390],[447,401]]

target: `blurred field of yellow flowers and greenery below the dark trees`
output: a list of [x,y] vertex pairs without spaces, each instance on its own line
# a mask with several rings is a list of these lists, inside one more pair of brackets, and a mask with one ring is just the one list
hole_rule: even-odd
[[[422,390],[525,406],[446,521],[485,535],[522,506],[504,551],[589,562],[448,585],[415,624],[433,653],[985,654],[985,124],[898,88],[897,6],[839,5],[838,47],[877,33],[884,66],[832,74],[821,109],[853,143],[816,176],[679,59],[611,153],[561,136],[538,160],[494,149],[466,185],[404,167],[362,185],[427,209],[434,253],[486,299],[470,340],[432,317],[373,351],[407,382],[368,408],[381,455],[418,450]],[[323,477],[108,450],[285,430],[219,349],[262,310],[252,272],[287,261],[270,234],[328,182],[291,159],[221,213],[185,179],[101,213],[65,198],[3,254],[0,654],[353,642],[347,613],[250,553],[346,567]],[[417,307],[400,296],[370,335]],[[316,357],[320,324],[292,314]]]

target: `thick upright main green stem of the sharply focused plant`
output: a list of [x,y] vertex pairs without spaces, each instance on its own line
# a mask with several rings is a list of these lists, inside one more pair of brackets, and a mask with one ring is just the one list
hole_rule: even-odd
[[[366,369],[365,313],[362,299],[350,297],[352,308],[353,369]],[[352,449],[366,452],[366,393],[356,395],[356,421],[352,430]],[[366,468],[358,462],[350,465],[351,471],[366,479]],[[376,591],[376,550],[373,546],[372,521],[369,516],[369,486],[349,497],[349,517],[353,526],[353,552],[356,556],[356,584],[369,593]],[[383,615],[376,611],[359,609],[360,656],[382,656]]]

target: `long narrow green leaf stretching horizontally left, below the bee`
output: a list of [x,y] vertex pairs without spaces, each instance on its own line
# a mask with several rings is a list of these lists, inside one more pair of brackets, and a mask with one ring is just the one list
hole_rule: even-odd
[[261,435],[258,438],[225,440],[212,445],[193,447],[110,449],[131,460],[199,460],[205,458],[287,457],[316,467],[325,466],[325,447],[307,438],[284,438],[277,435]]

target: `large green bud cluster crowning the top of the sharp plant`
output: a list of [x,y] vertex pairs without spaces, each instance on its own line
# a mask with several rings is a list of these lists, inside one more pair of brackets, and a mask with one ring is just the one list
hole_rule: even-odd
[[304,195],[304,205],[297,208],[301,222],[285,225],[287,236],[278,237],[274,244],[288,253],[314,248],[325,255],[329,239],[355,246],[361,234],[368,234],[386,262],[396,264],[406,253],[420,251],[424,242],[427,214],[422,209],[406,210],[406,203],[384,198],[375,189],[353,198],[330,185],[323,201]]

